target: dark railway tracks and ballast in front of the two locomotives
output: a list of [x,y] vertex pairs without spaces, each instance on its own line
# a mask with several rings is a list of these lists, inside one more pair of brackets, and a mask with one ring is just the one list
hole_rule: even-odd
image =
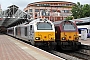
[[62,57],[66,60],[90,60],[90,46],[82,45],[82,49],[74,52],[50,51],[50,53]]

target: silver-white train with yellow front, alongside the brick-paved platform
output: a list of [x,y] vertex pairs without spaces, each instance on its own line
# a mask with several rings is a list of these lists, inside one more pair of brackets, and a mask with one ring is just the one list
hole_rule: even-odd
[[48,19],[35,19],[7,29],[7,34],[30,42],[35,46],[48,46],[54,48],[55,28]]

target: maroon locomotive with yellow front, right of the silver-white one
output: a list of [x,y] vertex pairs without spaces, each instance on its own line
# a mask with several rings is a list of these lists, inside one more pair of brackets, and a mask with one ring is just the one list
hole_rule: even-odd
[[76,50],[81,43],[79,42],[78,28],[72,21],[56,21],[55,25],[55,41],[57,48],[62,50]]

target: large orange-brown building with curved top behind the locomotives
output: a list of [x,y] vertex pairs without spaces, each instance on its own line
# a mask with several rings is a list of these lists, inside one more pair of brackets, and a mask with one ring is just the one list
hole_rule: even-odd
[[27,5],[24,11],[30,13],[32,18],[47,18],[51,21],[64,20],[71,16],[73,2],[67,1],[41,1]]

